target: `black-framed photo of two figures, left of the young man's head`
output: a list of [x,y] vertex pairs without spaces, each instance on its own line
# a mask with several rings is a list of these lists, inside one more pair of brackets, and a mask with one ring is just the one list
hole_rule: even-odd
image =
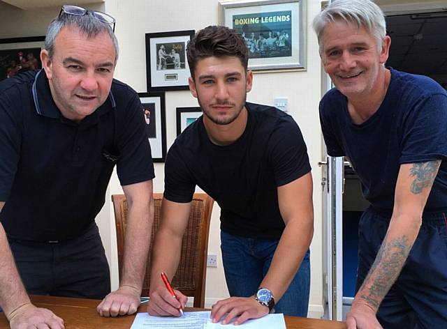
[[194,30],[146,33],[147,91],[188,90],[186,46]]

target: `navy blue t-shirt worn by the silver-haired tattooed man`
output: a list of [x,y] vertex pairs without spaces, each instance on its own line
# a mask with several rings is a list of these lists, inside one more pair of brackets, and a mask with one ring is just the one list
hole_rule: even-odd
[[320,102],[328,154],[347,156],[376,208],[392,210],[401,164],[442,160],[425,211],[447,209],[447,93],[429,77],[391,71],[379,109],[364,123],[351,120],[337,89]]

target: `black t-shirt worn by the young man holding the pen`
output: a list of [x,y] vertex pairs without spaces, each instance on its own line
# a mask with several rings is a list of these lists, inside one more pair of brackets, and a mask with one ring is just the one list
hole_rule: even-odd
[[307,148],[293,118],[274,107],[247,103],[242,136],[212,144],[203,118],[171,146],[164,197],[189,202],[196,185],[221,207],[221,229],[247,238],[278,239],[284,231],[277,188],[310,170]]

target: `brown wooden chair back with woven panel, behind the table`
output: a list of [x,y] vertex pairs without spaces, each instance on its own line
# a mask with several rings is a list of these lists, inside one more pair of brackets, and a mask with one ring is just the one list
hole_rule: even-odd
[[[161,200],[163,193],[154,193],[154,226],[152,227],[149,257],[147,258],[145,280],[142,296],[149,296],[151,282],[151,252],[154,235],[161,220]],[[119,278],[124,257],[124,236],[126,234],[127,202],[124,194],[112,195],[117,229],[117,249]],[[208,236],[214,200],[205,193],[195,193],[191,203],[188,226],[183,236],[182,254],[179,266],[171,282],[174,289],[182,291],[185,296],[193,296],[194,307],[205,307],[205,279],[207,265]]]

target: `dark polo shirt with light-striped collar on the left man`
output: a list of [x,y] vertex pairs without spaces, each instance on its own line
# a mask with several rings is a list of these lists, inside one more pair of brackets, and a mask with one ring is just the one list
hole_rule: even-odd
[[45,71],[0,82],[0,213],[9,238],[68,240],[121,185],[154,178],[138,94],[113,80],[108,99],[80,123],[61,116]]

